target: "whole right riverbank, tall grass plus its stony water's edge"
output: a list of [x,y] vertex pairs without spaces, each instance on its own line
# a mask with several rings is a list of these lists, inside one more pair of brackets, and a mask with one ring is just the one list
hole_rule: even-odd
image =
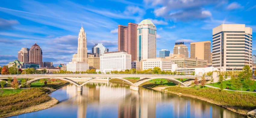
[[[207,97],[205,97],[205,96],[196,96],[196,95],[193,95],[193,94],[188,94],[189,92],[187,92],[188,90],[186,90],[186,89],[188,89],[188,88],[182,88],[182,87],[179,87],[178,89],[180,89],[180,90],[177,90],[177,91],[174,91],[174,90],[176,90],[178,87],[154,87],[154,88],[151,88],[151,89],[153,89],[153,90],[157,90],[157,91],[161,91],[161,92],[167,92],[167,93],[173,93],[173,94],[176,94],[176,95],[182,95],[182,96],[188,96],[188,97],[192,97],[192,98],[196,98],[196,99],[200,99],[200,100],[203,100],[203,101],[206,101],[206,102],[208,102],[208,103],[211,103],[211,104],[214,104],[214,105],[218,105],[218,106],[221,106],[221,107],[223,107],[223,108],[226,108],[227,110],[230,110],[230,111],[233,111],[233,112],[235,112],[235,113],[237,113],[237,114],[242,114],[242,115],[247,115],[247,112],[249,112],[249,111],[251,111],[251,110],[253,110],[253,109],[255,109],[255,103],[251,103],[251,105],[252,106],[247,106],[248,105],[248,102],[249,101],[247,101],[247,102],[239,102],[239,103],[237,103],[237,104],[239,104],[239,105],[228,105],[229,103],[231,104],[231,102],[238,102],[239,100],[241,100],[241,99],[236,99],[235,100],[235,98],[231,98],[230,97],[230,99],[229,99],[229,101],[231,101],[231,102],[228,102],[228,101],[226,101],[226,99],[225,98],[218,98],[218,99],[221,99],[222,100],[222,102],[220,102],[220,101],[218,101],[218,100],[214,100],[213,98],[214,97],[211,97],[211,98],[207,98]],[[184,89],[184,90],[183,90]],[[207,88],[207,89],[211,89],[211,91],[214,91],[214,89],[213,88]],[[206,91],[204,91],[204,93],[205,93]],[[223,91],[222,91],[223,92]],[[225,92],[225,91],[224,91]],[[196,92],[195,92],[196,93]],[[227,92],[228,93],[228,92]],[[199,94],[201,94],[201,93],[199,93]],[[223,95],[223,93],[219,93],[220,94],[220,96],[222,96]],[[230,93],[230,94],[232,94],[232,93]],[[246,94],[246,95],[248,95],[248,97],[246,97],[246,98],[251,98],[251,97],[253,97],[253,95],[251,95],[250,96],[250,94]],[[215,92],[211,92],[211,96],[215,96]],[[245,96],[245,95],[243,95],[243,96]],[[244,97],[245,98],[245,97]],[[244,98],[242,98],[242,99],[244,99]],[[251,102],[253,102],[254,100],[255,100],[255,98],[251,98]],[[245,100],[246,101],[246,100]],[[233,104],[233,103],[232,103]],[[249,103],[250,104],[250,103]],[[250,108],[249,108],[250,107]]]

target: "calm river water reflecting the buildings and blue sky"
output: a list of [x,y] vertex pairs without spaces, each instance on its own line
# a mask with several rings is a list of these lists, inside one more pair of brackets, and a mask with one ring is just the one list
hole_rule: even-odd
[[245,117],[198,99],[129,85],[93,81],[77,92],[69,84],[50,93],[58,105],[14,118],[241,118]]

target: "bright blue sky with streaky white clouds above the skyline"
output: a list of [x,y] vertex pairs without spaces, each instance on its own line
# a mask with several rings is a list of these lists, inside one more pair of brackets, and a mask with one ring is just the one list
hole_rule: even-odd
[[[87,48],[103,43],[117,51],[117,25],[151,19],[157,27],[159,50],[173,52],[175,42],[212,40],[220,24],[245,24],[256,32],[255,0],[0,0],[0,66],[17,59],[17,52],[36,41],[43,61],[67,63],[77,51],[81,23]],[[253,37],[254,39],[254,37]],[[253,48],[256,48],[253,40]],[[253,54],[256,54],[253,50]]]

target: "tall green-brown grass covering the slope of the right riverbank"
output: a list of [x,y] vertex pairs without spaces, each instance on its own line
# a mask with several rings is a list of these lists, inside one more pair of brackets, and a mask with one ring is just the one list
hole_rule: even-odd
[[220,91],[214,88],[201,88],[197,90],[193,87],[167,87],[167,92],[190,96],[204,101],[213,103],[215,105],[223,106],[228,110],[239,114],[246,114],[247,112],[256,109],[256,96],[241,92]]

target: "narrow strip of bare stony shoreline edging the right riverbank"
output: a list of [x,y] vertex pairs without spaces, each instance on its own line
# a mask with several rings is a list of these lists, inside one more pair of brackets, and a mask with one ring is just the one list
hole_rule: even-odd
[[203,101],[206,101],[208,103],[211,103],[211,104],[214,104],[214,105],[218,105],[220,107],[223,107],[223,108],[226,108],[227,110],[229,111],[233,111],[237,114],[242,114],[242,115],[245,115],[247,116],[247,111],[236,111],[235,109],[233,108],[229,108],[229,107],[226,107],[226,106],[222,106],[216,102],[214,102],[213,100],[210,100],[210,99],[206,99],[206,98],[202,98],[202,97],[198,97],[198,96],[193,96],[193,95],[189,95],[189,94],[184,94],[184,93],[176,93],[176,92],[173,92],[173,91],[167,91],[167,90],[164,90],[165,88],[167,87],[155,87],[155,88],[149,88],[149,89],[152,89],[152,90],[157,90],[157,91],[160,91],[160,92],[167,92],[167,93],[173,93],[173,94],[176,94],[176,95],[182,95],[182,96],[188,96],[188,97],[192,97],[192,98],[196,98],[196,99],[200,99],[200,100],[203,100]]

